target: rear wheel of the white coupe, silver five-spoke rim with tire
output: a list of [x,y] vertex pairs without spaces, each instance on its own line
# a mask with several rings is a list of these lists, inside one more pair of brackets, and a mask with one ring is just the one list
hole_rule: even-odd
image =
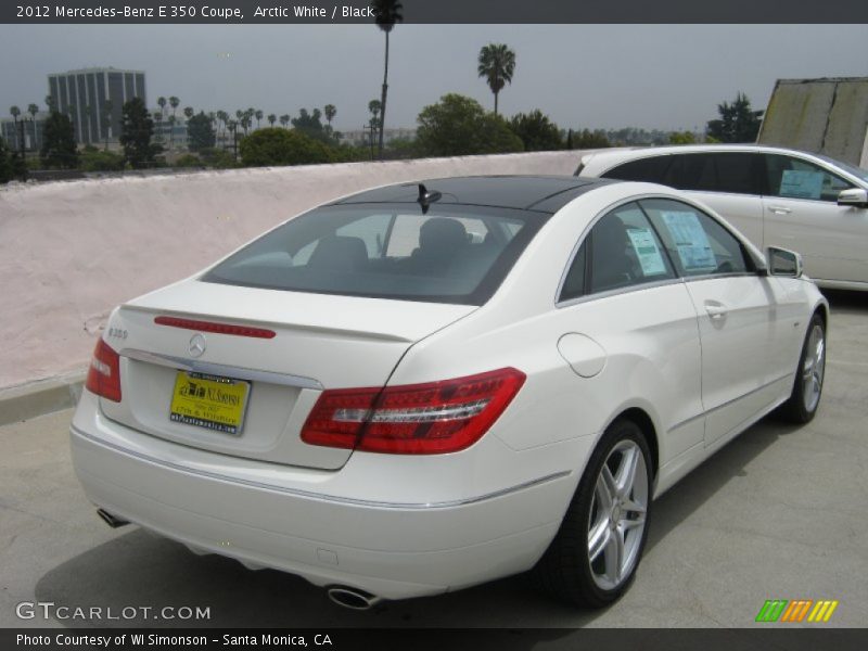
[[[618,481],[627,477],[626,472],[621,473],[628,468],[628,456],[636,462],[629,484]],[[602,474],[604,469],[608,477]],[[639,426],[627,419],[612,423],[588,461],[558,535],[532,572],[538,588],[583,608],[603,608],[626,591],[648,537],[651,469],[648,443]],[[601,492],[610,487],[617,489],[608,492],[607,502]],[[591,532],[599,534],[593,537],[592,551]],[[615,566],[618,572],[609,574]]]

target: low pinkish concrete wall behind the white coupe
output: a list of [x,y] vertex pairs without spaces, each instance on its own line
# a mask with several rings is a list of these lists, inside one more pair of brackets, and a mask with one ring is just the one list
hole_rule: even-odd
[[0,390],[84,369],[110,310],[306,208],[423,178],[572,174],[583,152],[205,171],[0,190]]

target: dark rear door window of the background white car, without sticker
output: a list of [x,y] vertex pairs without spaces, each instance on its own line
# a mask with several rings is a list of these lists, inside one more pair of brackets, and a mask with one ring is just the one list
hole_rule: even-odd
[[679,190],[758,194],[754,154],[720,152],[715,154],[679,154],[663,182]]

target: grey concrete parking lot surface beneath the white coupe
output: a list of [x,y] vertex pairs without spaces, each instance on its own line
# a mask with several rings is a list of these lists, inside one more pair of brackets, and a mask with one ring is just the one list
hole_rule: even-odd
[[[830,298],[817,418],[764,420],[658,500],[637,580],[608,610],[571,609],[514,577],[359,613],[303,579],[111,529],[73,474],[66,410],[0,427],[0,626],[744,627],[766,599],[835,599],[825,626],[865,626],[868,296]],[[115,615],[200,607],[210,620],[22,621],[23,601]]]

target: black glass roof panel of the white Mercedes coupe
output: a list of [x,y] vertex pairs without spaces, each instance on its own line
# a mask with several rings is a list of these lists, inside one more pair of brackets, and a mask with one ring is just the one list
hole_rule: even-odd
[[576,196],[621,181],[573,176],[471,176],[396,183],[345,196],[331,205],[417,203],[419,184],[441,192],[438,204],[462,204],[557,213]]

